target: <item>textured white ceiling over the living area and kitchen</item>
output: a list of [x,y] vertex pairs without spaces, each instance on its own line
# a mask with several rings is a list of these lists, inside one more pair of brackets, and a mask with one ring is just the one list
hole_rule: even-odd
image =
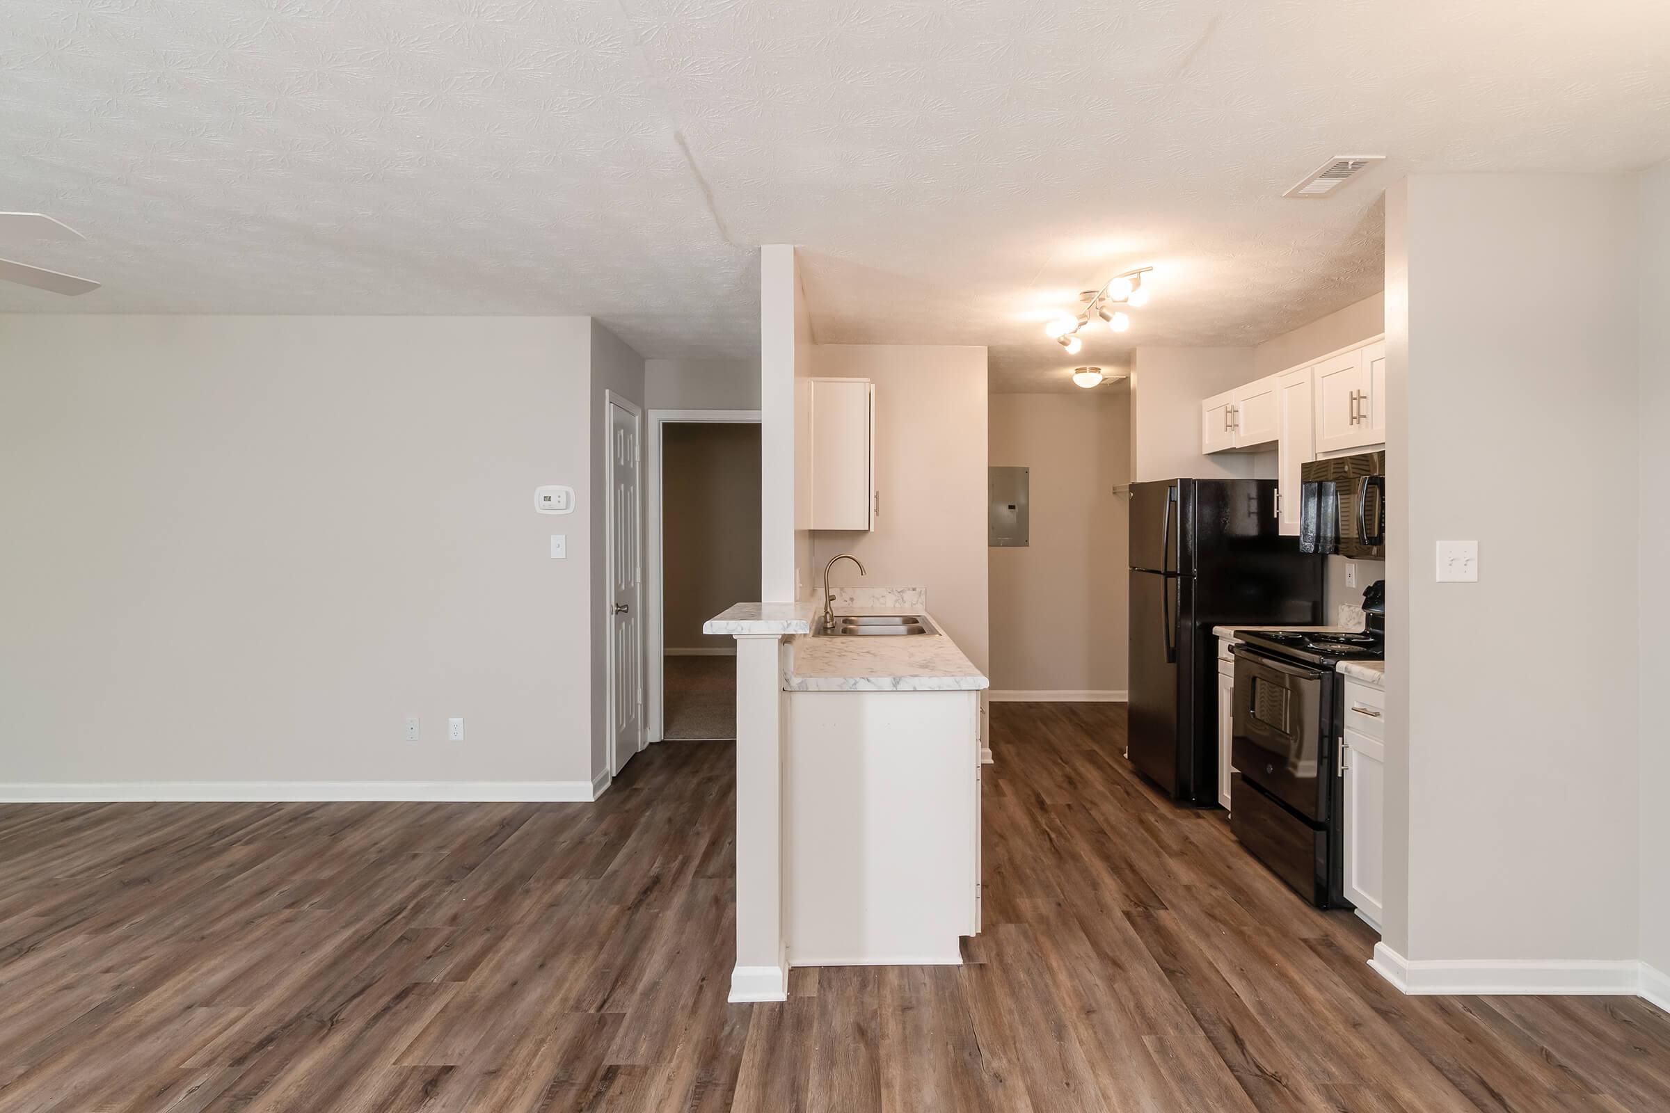
[[[1386,154],[1329,200],[1281,192]],[[650,357],[758,345],[755,245],[823,342],[987,344],[1074,389],[1381,284],[1409,170],[1670,157],[1658,0],[10,0],[0,209],[105,282],[0,310],[595,314]],[[1154,264],[1079,359],[1050,307]]]

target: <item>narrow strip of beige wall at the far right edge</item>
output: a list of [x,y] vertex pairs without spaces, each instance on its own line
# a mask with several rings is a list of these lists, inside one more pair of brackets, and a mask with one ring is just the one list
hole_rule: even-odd
[[1670,676],[1670,599],[1663,572],[1670,569],[1670,517],[1647,492],[1670,491],[1670,162],[1640,175],[1640,476],[1642,544],[1637,594],[1640,639],[1640,876],[1642,959],[1670,976],[1670,719],[1665,718],[1660,677]]

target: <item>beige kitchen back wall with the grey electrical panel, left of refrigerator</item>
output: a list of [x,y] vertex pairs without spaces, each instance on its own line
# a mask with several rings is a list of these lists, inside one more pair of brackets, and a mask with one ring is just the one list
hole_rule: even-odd
[[992,687],[1124,692],[1131,399],[994,394],[994,467],[1030,469],[1030,544],[989,549]]

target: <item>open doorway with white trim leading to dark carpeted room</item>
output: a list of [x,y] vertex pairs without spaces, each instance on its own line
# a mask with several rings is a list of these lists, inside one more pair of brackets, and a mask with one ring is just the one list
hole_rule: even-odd
[[760,596],[760,414],[650,410],[650,739],[736,738],[736,641]]

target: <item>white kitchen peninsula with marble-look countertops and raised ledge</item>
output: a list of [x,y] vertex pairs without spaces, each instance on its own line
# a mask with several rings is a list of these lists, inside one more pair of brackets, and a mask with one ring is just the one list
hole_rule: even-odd
[[852,592],[832,631],[810,601],[738,604],[703,627],[738,651],[733,1001],[782,1000],[790,966],[959,963],[979,931],[987,677],[924,602]]

